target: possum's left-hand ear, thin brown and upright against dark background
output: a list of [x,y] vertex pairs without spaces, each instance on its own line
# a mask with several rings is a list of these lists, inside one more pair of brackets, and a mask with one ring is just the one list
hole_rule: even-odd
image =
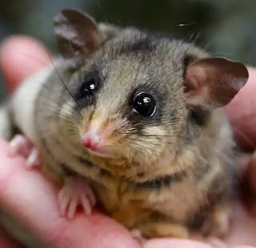
[[54,17],[54,31],[62,57],[74,65],[90,57],[102,44],[102,33],[93,18],[80,10],[65,9]]

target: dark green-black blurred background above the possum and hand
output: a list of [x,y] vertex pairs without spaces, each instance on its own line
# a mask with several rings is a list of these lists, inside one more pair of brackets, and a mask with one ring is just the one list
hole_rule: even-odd
[[0,41],[24,33],[56,52],[52,19],[69,6],[101,22],[183,34],[216,55],[256,65],[256,0],[0,0]]

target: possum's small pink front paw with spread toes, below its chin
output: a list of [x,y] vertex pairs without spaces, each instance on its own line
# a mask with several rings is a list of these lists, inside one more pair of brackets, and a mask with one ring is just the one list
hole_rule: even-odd
[[86,179],[74,177],[66,179],[58,193],[58,203],[61,215],[70,219],[74,218],[79,205],[82,206],[86,215],[90,215],[96,199]]

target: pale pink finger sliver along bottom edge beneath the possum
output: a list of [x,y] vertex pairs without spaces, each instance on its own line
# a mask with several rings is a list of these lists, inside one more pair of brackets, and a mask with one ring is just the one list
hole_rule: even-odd
[[175,239],[175,238],[161,238],[151,239],[147,241],[143,248],[210,248],[211,246],[203,244],[201,242],[194,242],[186,239]]

